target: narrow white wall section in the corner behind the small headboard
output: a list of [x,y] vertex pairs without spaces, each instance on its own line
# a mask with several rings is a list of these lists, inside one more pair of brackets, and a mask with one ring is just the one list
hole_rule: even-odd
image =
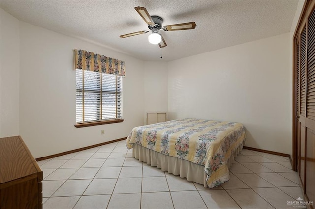
[[167,62],[144,62],[145,117],[147,112],[167,112],[167,77]]

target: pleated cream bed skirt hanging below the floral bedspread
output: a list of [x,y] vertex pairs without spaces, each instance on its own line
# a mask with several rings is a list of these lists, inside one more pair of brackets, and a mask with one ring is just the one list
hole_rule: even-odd
[[[227,160],[228,168],[231,167],[232,162],[234,162],[234,157],[237,156],[242,148],[243,143]],[[161,168],[162,171],[167,171],[175,176],[179,175],[182,178],[186,178],[189,182],[199,183],[204,187],[208,187],[207,174],[205,172],[205,167],[202,165],[197,165],[177,157],[167,156],[137,144],[133,145],[132,156],[148,165],[157,166],[158,168]]]

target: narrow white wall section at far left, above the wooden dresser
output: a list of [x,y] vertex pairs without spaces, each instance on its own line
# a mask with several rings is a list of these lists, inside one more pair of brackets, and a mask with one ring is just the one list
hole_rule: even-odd
[[0,137],[19,135],[19,20],[1,9]]

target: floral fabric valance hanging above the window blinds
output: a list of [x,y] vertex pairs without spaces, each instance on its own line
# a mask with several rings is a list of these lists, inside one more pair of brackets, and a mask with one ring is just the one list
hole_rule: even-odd
[[125,62],[85,50],[74,50],[74,69],[102,72],[125,77]]

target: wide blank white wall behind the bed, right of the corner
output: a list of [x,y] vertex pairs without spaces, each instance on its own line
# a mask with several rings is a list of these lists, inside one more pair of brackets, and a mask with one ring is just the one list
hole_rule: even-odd
[[169,118],[236,121],[246,146],[291,154],[289,33],[168,63]]

